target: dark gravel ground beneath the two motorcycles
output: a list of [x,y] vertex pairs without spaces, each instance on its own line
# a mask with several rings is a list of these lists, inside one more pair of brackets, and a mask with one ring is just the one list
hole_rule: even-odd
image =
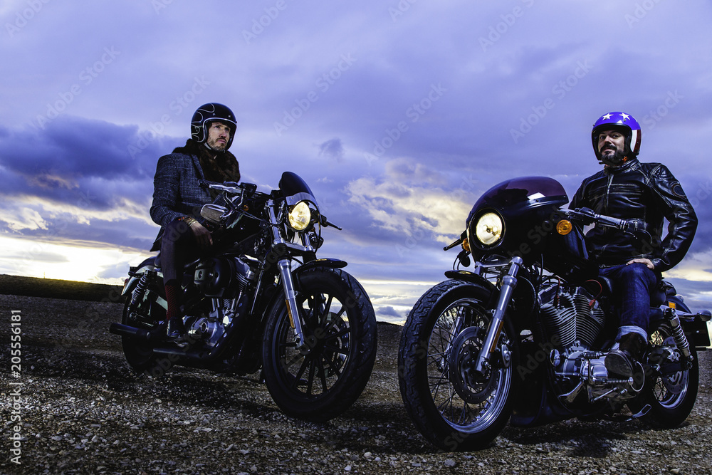
[[[120,313],[119,303],[0,296],[0,472],[712,474],[709,352],[700,357],[696,408],[678,429],[572,420],[508,427],[488,449],[446,453],[425,442],[402,406],[395,325],[379,324],[378,359],[360,400],[342,417],[310,424],[284,416],[255,376],[132,374],[108,333]],[[19,375],[11,373],[12,315],[20,317]]]

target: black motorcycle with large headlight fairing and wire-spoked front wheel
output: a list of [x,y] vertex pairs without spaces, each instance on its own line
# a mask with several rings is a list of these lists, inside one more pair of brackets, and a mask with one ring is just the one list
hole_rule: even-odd
[[[604,360],[619,323],[611,283],[588,259],[584,228],[622,229],[641,243],[646,233],[640,221],[562,208],[568,201],[548,177],[489,189],[466,231],[444,248],[462,248],[448,280],[409,313],[399,388],[417,429],[437,447],[481,449],[508,422],[644,417],[676,427],[689,416],[710,312],[692,313],[663,281],[651,296],[648,345],[634,377],[609,375]],[[471,256],[473,270],[461,268]]]

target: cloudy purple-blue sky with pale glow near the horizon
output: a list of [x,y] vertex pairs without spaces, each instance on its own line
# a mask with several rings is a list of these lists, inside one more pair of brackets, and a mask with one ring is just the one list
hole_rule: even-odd
[[712,307],[708,1],[6,0],[0,24],[0,273],[122,283],[159,229],[158,157],[219,102],[243,181],[303,177],[343,228],[320,256],[402,322],[486,189],[571,197],[623,110],[700,219],[666,278]]

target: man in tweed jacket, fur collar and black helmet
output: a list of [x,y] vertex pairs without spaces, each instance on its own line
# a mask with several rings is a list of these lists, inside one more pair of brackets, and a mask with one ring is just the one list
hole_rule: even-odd
[[212,244],[210,232],[201,224],[200,210],[214,196],[200,186],[200,180],[239,181],[239,164],[227,151],[236,130],[229,108],[218,103],[201,105],[193,115],[186,145],[158,159],[150,212],[161,230],[152,250],[161,251],[167,338],[181,345],[185,337],[180,311],[182,269]]

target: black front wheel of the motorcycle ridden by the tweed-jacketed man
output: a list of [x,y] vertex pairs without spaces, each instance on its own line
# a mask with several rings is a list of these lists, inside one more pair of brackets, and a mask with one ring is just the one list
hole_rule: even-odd
[[286,414],[323,422],[342,414],[366,387],[376,358],[376,317],[366,291],[340,269],[308,269],[295,287],[305,341],[295,341],[281,296],[264,333],[265,382]]

